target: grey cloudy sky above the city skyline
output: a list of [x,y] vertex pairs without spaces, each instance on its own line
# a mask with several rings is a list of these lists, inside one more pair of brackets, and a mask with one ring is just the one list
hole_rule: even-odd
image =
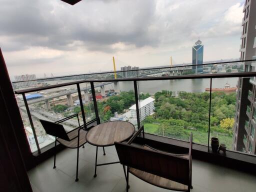
[[1,0],[0,47],[9,75],[54,75],[239,57],[244,0]]

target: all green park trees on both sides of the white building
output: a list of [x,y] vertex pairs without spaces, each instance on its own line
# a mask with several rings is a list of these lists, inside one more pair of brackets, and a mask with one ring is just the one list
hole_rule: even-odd
[[[139,99],[150,96],[140,94]],[[173,96],[171,91],[162,90],[151,95],[155,98],[155,113],[143,121],[145,131],[152,134],[188,140],[193,132],[196,143],[208,142],[209,92],[192,93],[180,91]],[[234,123],[236,93],[212,92],[210,111],[210,135],[217,136],[220,143],[231,148],[232,129]],[[97,107],[101,122],[108,121],[114,112],[123,113],[135,103],[133,91],[122,91],[120,94],[98,100]],[[85,116],[95,117],[93,102],[84,104]],[[54,106],[53,110],[63,110]],[[73,108],[74,113],[80,113],[80,106]]]

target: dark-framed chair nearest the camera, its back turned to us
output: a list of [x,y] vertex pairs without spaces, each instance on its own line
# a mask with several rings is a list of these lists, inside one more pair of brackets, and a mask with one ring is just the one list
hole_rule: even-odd
[[[129,188],[129,173],[161,188],[190,191],[192,188],[192,133],[190,134],[189,152],[175,154],[157,150],[146,144],[141,146],[131,144],[142,129],[143,127],[127,143],[114,143],[120,163],[123,165],[126,191]],[[127,167],[126,170],[124,165]]]

